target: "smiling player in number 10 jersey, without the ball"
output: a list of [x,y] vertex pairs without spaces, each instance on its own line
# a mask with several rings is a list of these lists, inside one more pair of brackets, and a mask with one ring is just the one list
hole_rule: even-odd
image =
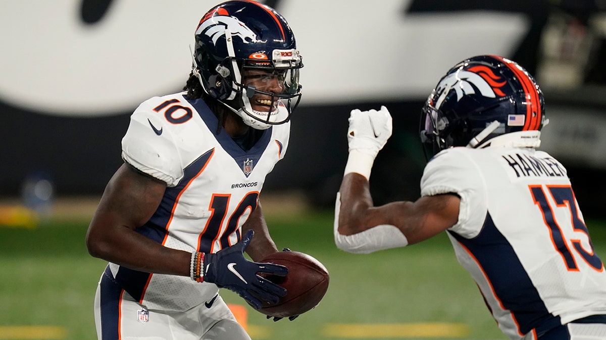
[[88,251],[109,261],[99,339],[250,339],[219,288],[255,309],[285,294],[258,273],[286,267],[255,261],[278,251],[259,192],[301,97],[295,36],[273,8],[227,1],[202,17],[192,54],[184,91],[132,114],[88,228]]

